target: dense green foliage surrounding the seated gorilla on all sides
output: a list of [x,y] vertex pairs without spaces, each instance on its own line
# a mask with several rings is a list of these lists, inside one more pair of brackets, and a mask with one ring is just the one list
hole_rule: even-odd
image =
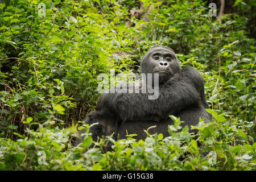
[[[236,13],[221,21],[209,2],[141,2],[0,1],[0,169],[255,170],[255,1],[232,1]],[[213,121],[194,126],[195,138],[174,118],[167,138],[86,133],[73,147],[95,109],[97,76],[139,73],[153,44],[201,72]],[[103,153],[107,142],[113,151]]]

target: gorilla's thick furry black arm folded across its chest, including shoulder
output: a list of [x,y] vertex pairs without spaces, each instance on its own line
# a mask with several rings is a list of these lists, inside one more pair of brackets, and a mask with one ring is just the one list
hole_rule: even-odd
[[156,100],[148,100],[148,95],[104,94],[100,97],[97,110],[108,107],[122,121],[164,119],[188,106],[199,104],[204,98],[204,80],[195,68],[186,67],[159,88],[159,97]]

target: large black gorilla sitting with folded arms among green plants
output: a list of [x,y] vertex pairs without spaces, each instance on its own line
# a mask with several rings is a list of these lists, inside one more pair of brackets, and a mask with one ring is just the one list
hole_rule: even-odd
[[[168,115],[180,117],[185,121],[181,126],[197,125],[199,118],[210,121],[211,115],[205,109],[208,104],[204,95],[204,80],[192,67],[181,69],[174,51],[165,46],[153,46],[142,57],[141,72],[159,75],[159,95],[149,100],[148,93],[105,93],[98,100],[96,111],[90,113],[85,122],[90,127],[93,140],[111,135],[124,139],[128,134],[137,134],[137,139],[145,139],[148,127],[150,134],[168,134],[168,125],[173,121]],[[154,85],[153,85],[154,86]],[[80,131],[81,133],[84,130]],[[196,133],[196,131],[193,131]],[[77,140],[76,144],[80,143]],[[111,150],[110,146],[107,150]]]

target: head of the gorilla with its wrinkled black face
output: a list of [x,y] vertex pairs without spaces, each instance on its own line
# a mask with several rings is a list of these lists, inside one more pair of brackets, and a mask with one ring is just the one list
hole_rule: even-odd
[[173,77],[181,67],[174,51],[164,46],[152,47],[142,58],[142,73],[155,73],[159,75],[159,83]]

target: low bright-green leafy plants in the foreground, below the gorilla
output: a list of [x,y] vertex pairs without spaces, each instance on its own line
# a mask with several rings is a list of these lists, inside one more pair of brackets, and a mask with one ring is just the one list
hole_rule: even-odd
[[[53,110],[52,114],[60,110]],[[246,134],[236,126],[227,126],[221,115],[213,114],[218,118],[216,122],[201,121],[195,126],[199,130],[197,140],[188,133],[187,126],[178,131],[181,121],[172,117],[175,122],[168,127],[170,137],[148,134],[145,140],[135,141],[130,135],[117,142],[112,138],[93,142],[91,134],[87,132],[84,142],[77,147],[72,147],[69,141],[71,135],[77,136],[76,127],[47,129],[47,125],[52,125],[53,121],[49,117],[44,126],[39,124],[37,131],[27,128],[27,137],[19,135],[20,139],[15,142],[11,139],[1,140],[0,157],[5,160],[0,163],[0,167],[9,170],[253,169],[256,144],[237,145],[233,136],[240,135],[245,142]],[[86,125],[86,128],[89,126]],[[197,141],[202,144],[199,146]],[[107,142],[114,143],[113,151],[102,154],[100,148]],[[98,147],[89,148],[92,143]]]

